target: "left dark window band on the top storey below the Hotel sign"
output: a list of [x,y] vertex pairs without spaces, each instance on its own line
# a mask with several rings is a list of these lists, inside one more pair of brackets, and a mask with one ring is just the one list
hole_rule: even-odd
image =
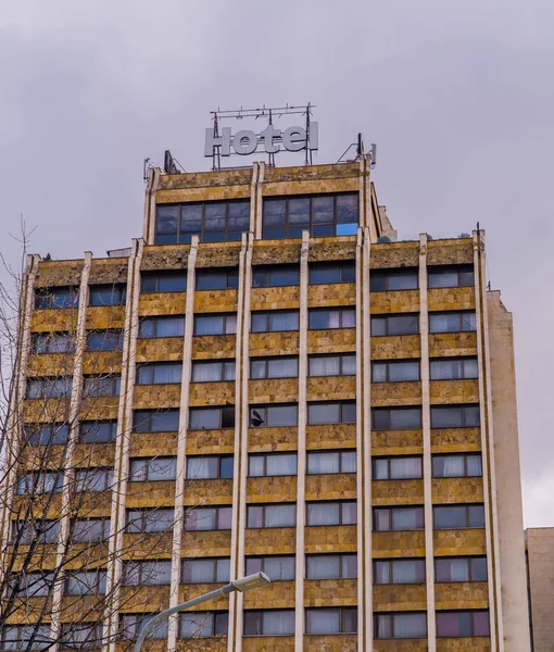
[[240,240],[250,228],[250,201],[210,201],[160,204],[156,211],[155,243],[189,243]]

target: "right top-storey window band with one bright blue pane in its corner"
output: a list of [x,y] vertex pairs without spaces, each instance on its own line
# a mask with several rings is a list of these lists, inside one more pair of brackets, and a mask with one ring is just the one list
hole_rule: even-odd
[[264,199],[265,239],[301,238],[303,230],[313,238],[352,236],[357,225],[357,192]]

